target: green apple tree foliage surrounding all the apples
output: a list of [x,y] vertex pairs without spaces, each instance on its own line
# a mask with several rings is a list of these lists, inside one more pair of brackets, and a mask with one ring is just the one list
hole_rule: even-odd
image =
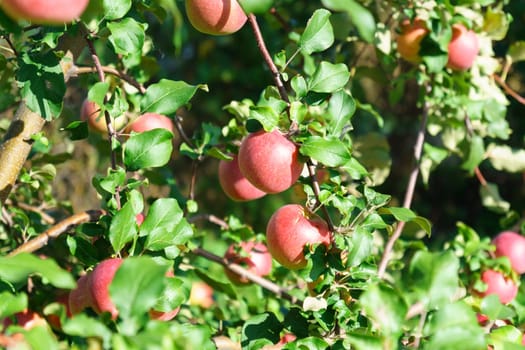
[[[0,152],[15,114],[45,120],[0,188],[2,344],[260,349],[291,333],[284,349],[521,348],[525,290],[503,305],[480,275],[521,281],[490,241],[525,233],[524,2],[240,3],[251,16],[227,36],[197,32],[178,0],[92,0],[63,26],[0,12]],[[430,27],[411,64],[395,38],[416,17]],[[466,71],[446,66],[454,22],[479,38]],[[78,118],[86,97],[103,117],[155,112],[177,132],[96,134]],[[302,176],[231,201],[218,161],[275,128],[299,146]],[[232,284],[226,248],[264,242],[289,203],[323,217],[333,244],[306,247],[303,269],[274,260],[264,281]],[[60,296],[112,256],[126,258],[110,287],[119,317],[69,315]],[[198,280],[214,289],[210,308],[189,303]],[[162,322],[154,305],[181,309]],[[24,326],[24,310],[47,321]]]

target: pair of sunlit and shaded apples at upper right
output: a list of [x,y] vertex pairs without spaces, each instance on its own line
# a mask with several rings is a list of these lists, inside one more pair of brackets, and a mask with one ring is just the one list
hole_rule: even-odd
[[[399,55],[408,62],[420,62],[421,41],[428,33],[425,21],[419,18],[412,22],[401,22],[400,34],[396,38]],[[478,52],[479,39],[476,33],[461,23],[453,24],[452,38],[448,44],[447,67],[458,71],[468,70],[474,64]]]

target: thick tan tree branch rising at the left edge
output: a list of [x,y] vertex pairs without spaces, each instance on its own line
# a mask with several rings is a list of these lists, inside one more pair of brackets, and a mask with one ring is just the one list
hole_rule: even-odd
[[24,102],[20,104],[0,145],[0,206],[9,196],[31,151],[31,136],[39,133],[44,124],[40,115],[31,111]]

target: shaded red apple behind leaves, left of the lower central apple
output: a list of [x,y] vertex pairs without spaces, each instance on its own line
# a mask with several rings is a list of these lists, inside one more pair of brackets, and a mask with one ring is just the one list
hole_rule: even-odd
[[[263,243],[250,241],[232,244],[226,250],[224,258],[230,263],[244,266],[257,276],[266,276],[272,271],[272,256]],[[246,277],[239,276],[228,269],[225,269],[225,273],[235,284],[250,283]]]

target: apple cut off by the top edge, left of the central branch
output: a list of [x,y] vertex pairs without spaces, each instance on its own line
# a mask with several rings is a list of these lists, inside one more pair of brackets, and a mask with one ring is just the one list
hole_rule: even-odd
[[235,33],[248,19],[237,0],[186,0],[186,14],[195,29],[211,35]]

